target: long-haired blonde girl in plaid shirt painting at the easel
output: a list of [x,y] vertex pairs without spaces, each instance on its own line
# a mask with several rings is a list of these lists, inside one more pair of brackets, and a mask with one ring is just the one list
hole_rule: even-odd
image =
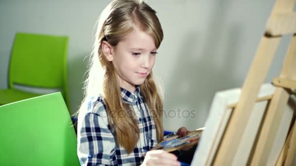
[[148,151],[164,136],[163,102],[152,77],[163,40],[155,14],[141,0],[114,0],[99,17],[78,111],[81,165],[180,165],[171,153]]

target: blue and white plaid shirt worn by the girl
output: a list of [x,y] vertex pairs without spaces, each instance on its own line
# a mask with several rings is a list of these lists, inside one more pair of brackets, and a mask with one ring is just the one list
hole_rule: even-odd
[[138,121],[140,139],[136,147],[127,154],[123,147],[116,144],[102,96],[92,97],[86,105],[86,111],[82,111],[78,117],[77,154],[81,165],[141,165],[144,154],[158,143],[155,123],[139,86],[134,93],[121,88],[121,96],[123,102],[133,108]]

